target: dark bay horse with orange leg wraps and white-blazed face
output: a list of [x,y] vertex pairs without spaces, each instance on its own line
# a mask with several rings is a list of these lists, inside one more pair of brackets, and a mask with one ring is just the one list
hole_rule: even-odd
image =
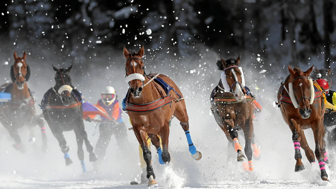
[[[238,142],[238,130],[244,131],[245,154],[248,159],[243,163],[245,170],[253,171],[252,155],[253,147],[256,147],[253,135],[253,100],[251,92],[245,87],[244,72],[239,67],[240,55],[237,59],[221,59],[217,62],[218,70],[221,73],[221,80],[214,88],[210,96],[212,112],[215,120],[224,131],[227,140],[232,143],[237,152],[237,161],[244,161],[242,147]],[[254,149],[257,150],[257,149]],[[256,157],[259,156],[255,154]]]

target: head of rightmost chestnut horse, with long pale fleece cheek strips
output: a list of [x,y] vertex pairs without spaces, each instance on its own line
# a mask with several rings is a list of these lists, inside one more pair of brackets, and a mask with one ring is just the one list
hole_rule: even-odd
[[301,117],[307,119],[310,116],[310,104],[314,101],[314,87],[312,79],[309,76],[313,67],[303,72],[298,68],[292,69],[288,65],[288,71],[292,77],[292,82],[289,83],[289,95],[295,108],[299,109]]

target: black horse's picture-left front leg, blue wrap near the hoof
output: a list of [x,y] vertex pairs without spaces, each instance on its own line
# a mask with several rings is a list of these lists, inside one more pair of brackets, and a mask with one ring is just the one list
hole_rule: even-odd
[[51,130],[51,133],[55,136],[55,138],[58,141],[59,147],[61,148],[62,153],[64,153],[64,159],[66,165],[72,164],[72,160],[70,159],[70,156],[68,154],[70,148],[67,146],[67,141],[64,138],[63,130],[61,129],[61,125],[59,122],[48,122],[49,128]]

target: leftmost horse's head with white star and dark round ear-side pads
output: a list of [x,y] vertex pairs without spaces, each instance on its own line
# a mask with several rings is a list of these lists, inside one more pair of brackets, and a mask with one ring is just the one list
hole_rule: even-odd
[[14,65],[10,68],[10,78],[17,84],[18,89],[23,89],[26,81],[30,77],[30,69],[26,63],[26,52],[23,53],[23,57],[17,57],[16,52],[14,52]]

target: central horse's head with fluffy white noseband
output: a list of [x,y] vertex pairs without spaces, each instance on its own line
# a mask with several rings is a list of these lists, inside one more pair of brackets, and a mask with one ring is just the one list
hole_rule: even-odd
[[126,58],[126,81],[130,86],[130,92],[133,97],[137,98],[141,96],[143,82],[145,80],[144,75],[144,65],[141,60],[145,51],[143,46],[141,46],[138,53],[129,53],[124,46],[124,56]]

